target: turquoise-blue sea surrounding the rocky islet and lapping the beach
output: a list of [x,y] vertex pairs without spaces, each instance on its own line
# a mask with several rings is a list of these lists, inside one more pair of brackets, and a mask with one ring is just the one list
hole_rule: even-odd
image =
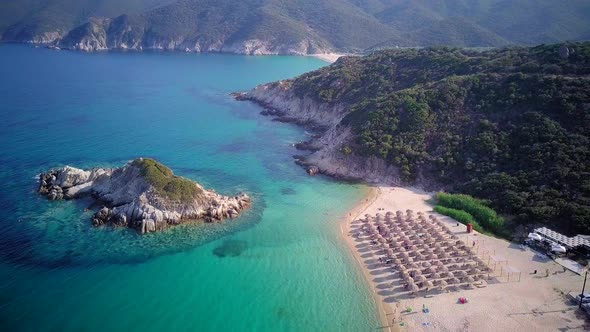
[[[0,331],[375,330],[338,227],[366,189],[307,176],[292,144],[309,133],[229,97],[324,65],[0,45]],[[254,207],[139,236],[35,193],[49,168],[139,156]]]

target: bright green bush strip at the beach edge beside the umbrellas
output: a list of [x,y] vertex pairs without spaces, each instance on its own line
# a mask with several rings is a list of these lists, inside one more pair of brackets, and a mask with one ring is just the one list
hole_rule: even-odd
[[462,210],[471,215],[484,229],[498,233],[504,226],[504,219],[496,211],[487,207],[481,200],[469,195],[438,193],[438,204],[442,207]]

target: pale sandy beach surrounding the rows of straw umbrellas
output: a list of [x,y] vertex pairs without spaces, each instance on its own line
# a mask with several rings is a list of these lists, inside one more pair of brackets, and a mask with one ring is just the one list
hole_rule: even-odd
[[[415,188],[374,187],[367,199],[349,214],[342,234],[359,268],[370,284],[384,331],[588,331],[590,323],[583,312],[567,298],[570,292],[579,292],[583,277],[565,271],[543,254],[506,240],[483,234],[468,235],[464,225],[445,216],[435,214],[429,203],[433,193]],[[385,214],[388,211],[424,212],[435,215],[460,239],[477,249],[484,259],[494,256],[506,260],[504,266],[520,271],[520,281],[513,276],[500,275],[496,267],[485,287],[419,293],[415,297],[396,298],[389,289],[385,269],[376,269],[378,256],[365,248],[364,240],[355,236],[355,223],[365,214]],[[362,251],[362,252],[361,252]],[[533,271],[537,270],[537,274]],[[548,275],[548,276],[546,276]],[[459,297],[468,299],[460,304]],[[428,308],[424,313],[422,308]],[[407,308],[412,308],[408,312]],[[395,323],[392,321],[395,319]]]

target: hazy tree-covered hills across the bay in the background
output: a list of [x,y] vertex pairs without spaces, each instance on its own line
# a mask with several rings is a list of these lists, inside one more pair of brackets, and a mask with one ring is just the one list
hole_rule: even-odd
[[65,35],[90,17],[121,14],[130,15],[135,34],[145,33],[146,45],[261,39],[354,51],[590,38],[585,0],[6,0],[0,4],[0,35],[21,41],[46,32]]

